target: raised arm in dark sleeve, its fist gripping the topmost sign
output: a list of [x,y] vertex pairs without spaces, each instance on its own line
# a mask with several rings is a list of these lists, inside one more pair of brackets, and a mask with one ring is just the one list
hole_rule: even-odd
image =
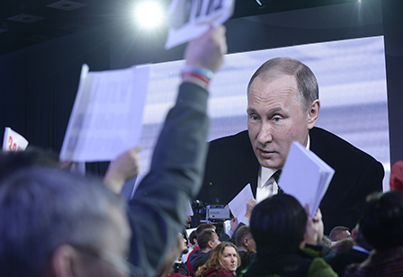
[[[129,202],[130,262],[154,276],[185,219],[188,202],[199,192],[207,152],[208,82],[227,51],[225,28],[210,28],[186,51],[186,73],[175,106],[157,140],[149,173]],[[205,70],[206,69],[206,70]],[[198,72],[200,76],[198,76]]]

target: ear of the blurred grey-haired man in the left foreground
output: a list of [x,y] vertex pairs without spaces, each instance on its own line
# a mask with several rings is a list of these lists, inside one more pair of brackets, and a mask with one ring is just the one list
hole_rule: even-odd
[[75,277],[79,254],[73,246],[58,246],[49,262],[50,276]]

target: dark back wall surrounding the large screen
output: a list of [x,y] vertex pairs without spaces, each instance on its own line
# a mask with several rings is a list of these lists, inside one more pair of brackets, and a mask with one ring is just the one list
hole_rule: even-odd
[[[357,24],[360,14],[356,13],[356,7],[351,3],[352,7],[346,7],[347,14],[340,13],[339,19],[333,19],[339,20],[340,25],[327,28],[309,27],[309,24],[321,26],[328,21],[322,14],[323,9],[318,7],[277,13],[290,16],[290,24],[276,23],[276,13],[231,19],[226,23],[228,51],[234,53],[383,34],[390,162],[393,164],[403,159],[403,3],[395,0],[363,2],[375,5],[378,12],[374,10],[376,14],[372,17],[376,20]],[[325,8],[332,7],[337,11],[341,5]],[[349,20],[351,24],[346,22]],[[294,24],[292,21],[295,21]],[[307,23],[307,27],[301,28],[300,22]],[[103,25],[0,56],[0,130],[9,126],[28,139],[31,145],[58,153],[76,96],[82,64],[86,63],[96,71],[182,58],[184,46],[166,51],[163,49],[165,40],[166,31],[159,36],[145,37],[140,33],[130,33],[128,28],[114,23],[113,26]],[[102,173],[104,165],[94,165],[92,170]]]

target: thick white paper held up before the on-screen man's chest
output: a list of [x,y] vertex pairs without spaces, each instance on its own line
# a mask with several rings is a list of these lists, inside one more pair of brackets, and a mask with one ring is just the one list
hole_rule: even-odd
[[309,204],[309,215],[313,218],[333,174],[335,170],[315,153],[299,142],[293,142],[282,168],[279,186],[300,201],[302,207]]

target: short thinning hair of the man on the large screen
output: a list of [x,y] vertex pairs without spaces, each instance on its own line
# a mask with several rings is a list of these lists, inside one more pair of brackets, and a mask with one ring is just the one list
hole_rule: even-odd
[[257,76],[273,79],[279,76],[295,76],[299,100],[305,110],[309,109],[312,102],[319,98],[318,81],[312,70],[294,58],[272,58],[257,68],[247,85],[247,93]]

